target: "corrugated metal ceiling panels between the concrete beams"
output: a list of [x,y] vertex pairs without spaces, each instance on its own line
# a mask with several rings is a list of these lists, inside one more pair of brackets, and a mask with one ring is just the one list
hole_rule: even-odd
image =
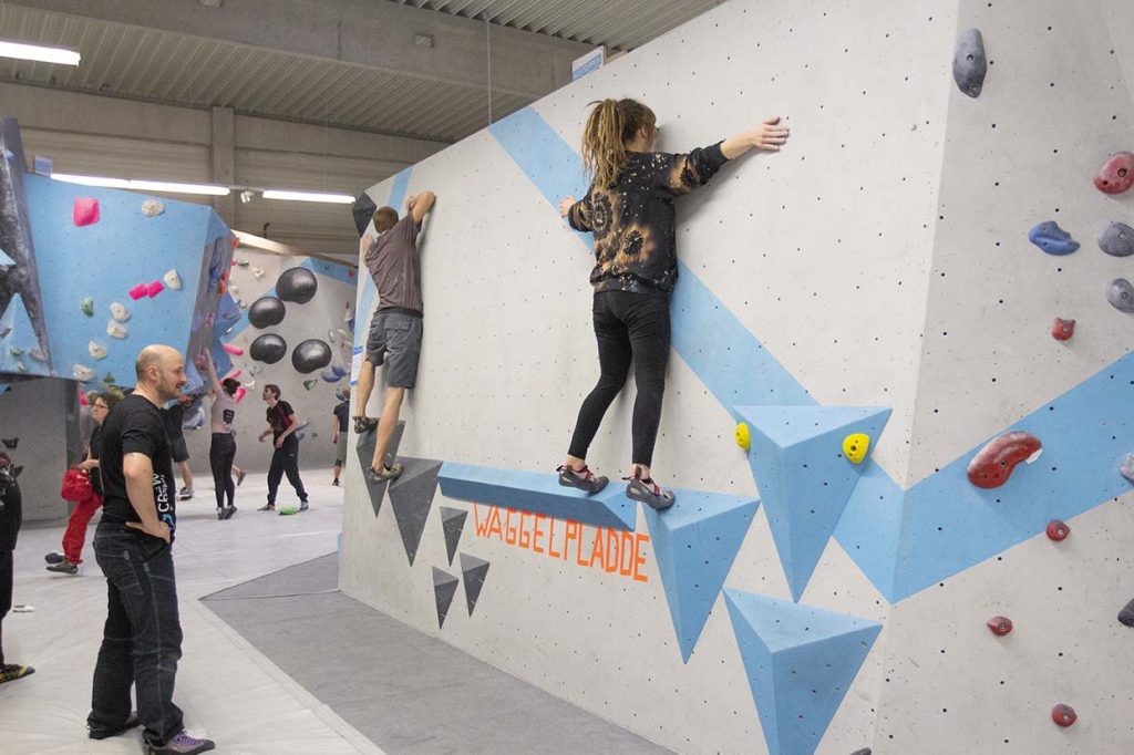
[[[376,0],[631,49],[720,0]],[[0,5],[8,39],[70,46],[83,65],[0,59],[0,80],[456,142],[489,124],[484,87],[142,26]],[[493,91],[499,119],[532,97]]]

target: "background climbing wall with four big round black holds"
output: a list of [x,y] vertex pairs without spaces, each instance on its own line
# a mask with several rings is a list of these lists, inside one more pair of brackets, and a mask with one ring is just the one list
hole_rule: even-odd
[[[256,436],[268,426],[262,392],[280,387],[299,417],[301,468],[330,467],[336,449],[331,410],[341,401],[350,365],[350,317],[357,279],[350,265],[306,256],[237,249],[228,299],[218,316],[213,358],[221,378],[244,387],[236,413],[236,465],[264,470],[271,443]],[[228,364],[228,370],[222,364]],[[198,427],[186,430],[191,465],[209,472],[210,399]],[[191,424],[196,424],[192,422]]]

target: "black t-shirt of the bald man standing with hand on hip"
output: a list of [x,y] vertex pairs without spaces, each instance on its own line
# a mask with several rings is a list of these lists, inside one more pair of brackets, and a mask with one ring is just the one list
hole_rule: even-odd
[[127,453],[143,453],[153,463],[153,497],[158,504],[158,518],[169,525],[170,533],[177,527],[174,460],[162,415],[162,410],[145,398],[130,395],[111,410],[102,424],[99,469],[105,491],[102,501],[103,521],[142,520],[126,492],[122,459]]

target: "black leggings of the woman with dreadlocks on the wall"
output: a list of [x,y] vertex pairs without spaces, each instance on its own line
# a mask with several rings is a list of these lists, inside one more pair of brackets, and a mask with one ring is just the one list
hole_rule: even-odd
[[669,359],[669,297],[629,291],[594,295],[594,336],[599,341],[599,382],[583,401],[568,453],[586,458],[610,402],[626,384],[634,364],[633,464],[650,466],[661,422]]

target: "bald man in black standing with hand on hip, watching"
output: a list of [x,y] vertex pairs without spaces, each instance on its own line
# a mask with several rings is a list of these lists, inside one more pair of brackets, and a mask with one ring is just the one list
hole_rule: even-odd
[[[147,346],[135,371],[137,388],[102,425],[104,499],[94,554],[109,608],[87,728],[92,739],[105,739],[142,724],[147,753],[203,753],[215,745],[191,737],[174,705],[181,658],[171,550],[177,495],[161,407],[185,387],[185,360],[168,346]],[[130,712],[132,685],[137,714]]]

